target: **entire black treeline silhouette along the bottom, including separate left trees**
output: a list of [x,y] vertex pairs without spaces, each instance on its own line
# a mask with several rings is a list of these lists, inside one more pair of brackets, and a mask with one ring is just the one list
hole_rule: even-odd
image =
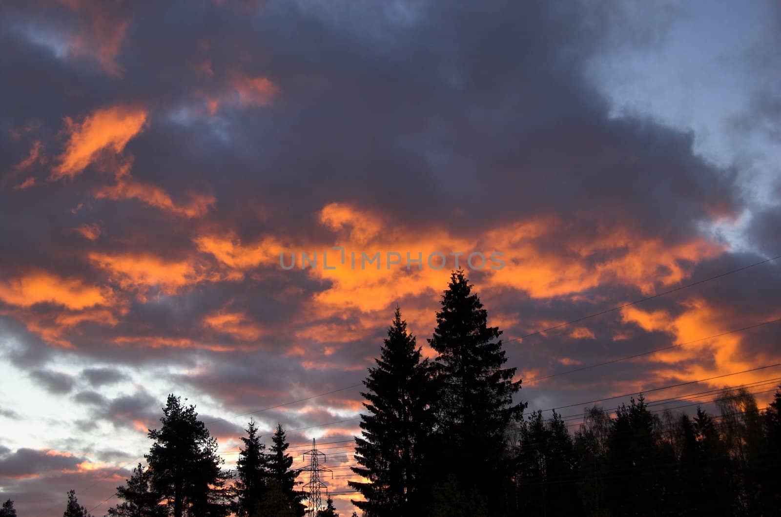
[[[509,515],[779,515],[781,388],[760,410],[726,389],[718,415],[588,408],[569,432],[553,412],[524,415],[521,381],[505,368],[501,331],[462,271],[451,274],[422,349],[397,307],[364,381],[362,433],[349,485],[366,517]],[[266,450],[250,421],[234,471],[193,405],[169,395],[147,466],[138,465],[111,517],[301,517],[306,494],[278,425]],[[329,497],[316,517],[338,515]],[[356,512],[353,515],[357,515]],[[0,517],[16,516],[12,501]],[[73,490],[64,517],[88,517]]]

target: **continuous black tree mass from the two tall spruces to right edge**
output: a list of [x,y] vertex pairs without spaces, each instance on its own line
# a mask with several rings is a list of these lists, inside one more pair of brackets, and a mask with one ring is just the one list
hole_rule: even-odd
[[463,272],[451,275],[429,361],[396,310],[364,385],[351,481],[367,517],[781,515],[781,388],[761,411],[723,390],[719,415],[615,416],[594,406],[569,432],[556,412],[524,415],[501,332]]

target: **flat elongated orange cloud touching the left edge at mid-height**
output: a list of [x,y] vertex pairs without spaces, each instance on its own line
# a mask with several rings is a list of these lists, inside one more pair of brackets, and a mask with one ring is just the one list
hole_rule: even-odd
[[108,296],[104,289],[77,278],[62,278],[46,271],[34,271],[0,281],[0,300],[17,307],[48,302],[79,310],[105,305]]

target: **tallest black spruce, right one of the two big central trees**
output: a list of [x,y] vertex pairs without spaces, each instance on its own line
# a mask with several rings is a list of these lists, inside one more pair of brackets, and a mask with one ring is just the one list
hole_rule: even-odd
[[513,403],[521,381],[515,368],[505,368],[505,351],[487,311],[472,293],[463,271],[451,274],[437,312],[437,328],[429,340],[439,354],[435,403],[440,457],[433,474],[452,472],[461,490],[476,487],[490,512],[506,512],[508,468],[505,429],[520,419],[526,404]]

